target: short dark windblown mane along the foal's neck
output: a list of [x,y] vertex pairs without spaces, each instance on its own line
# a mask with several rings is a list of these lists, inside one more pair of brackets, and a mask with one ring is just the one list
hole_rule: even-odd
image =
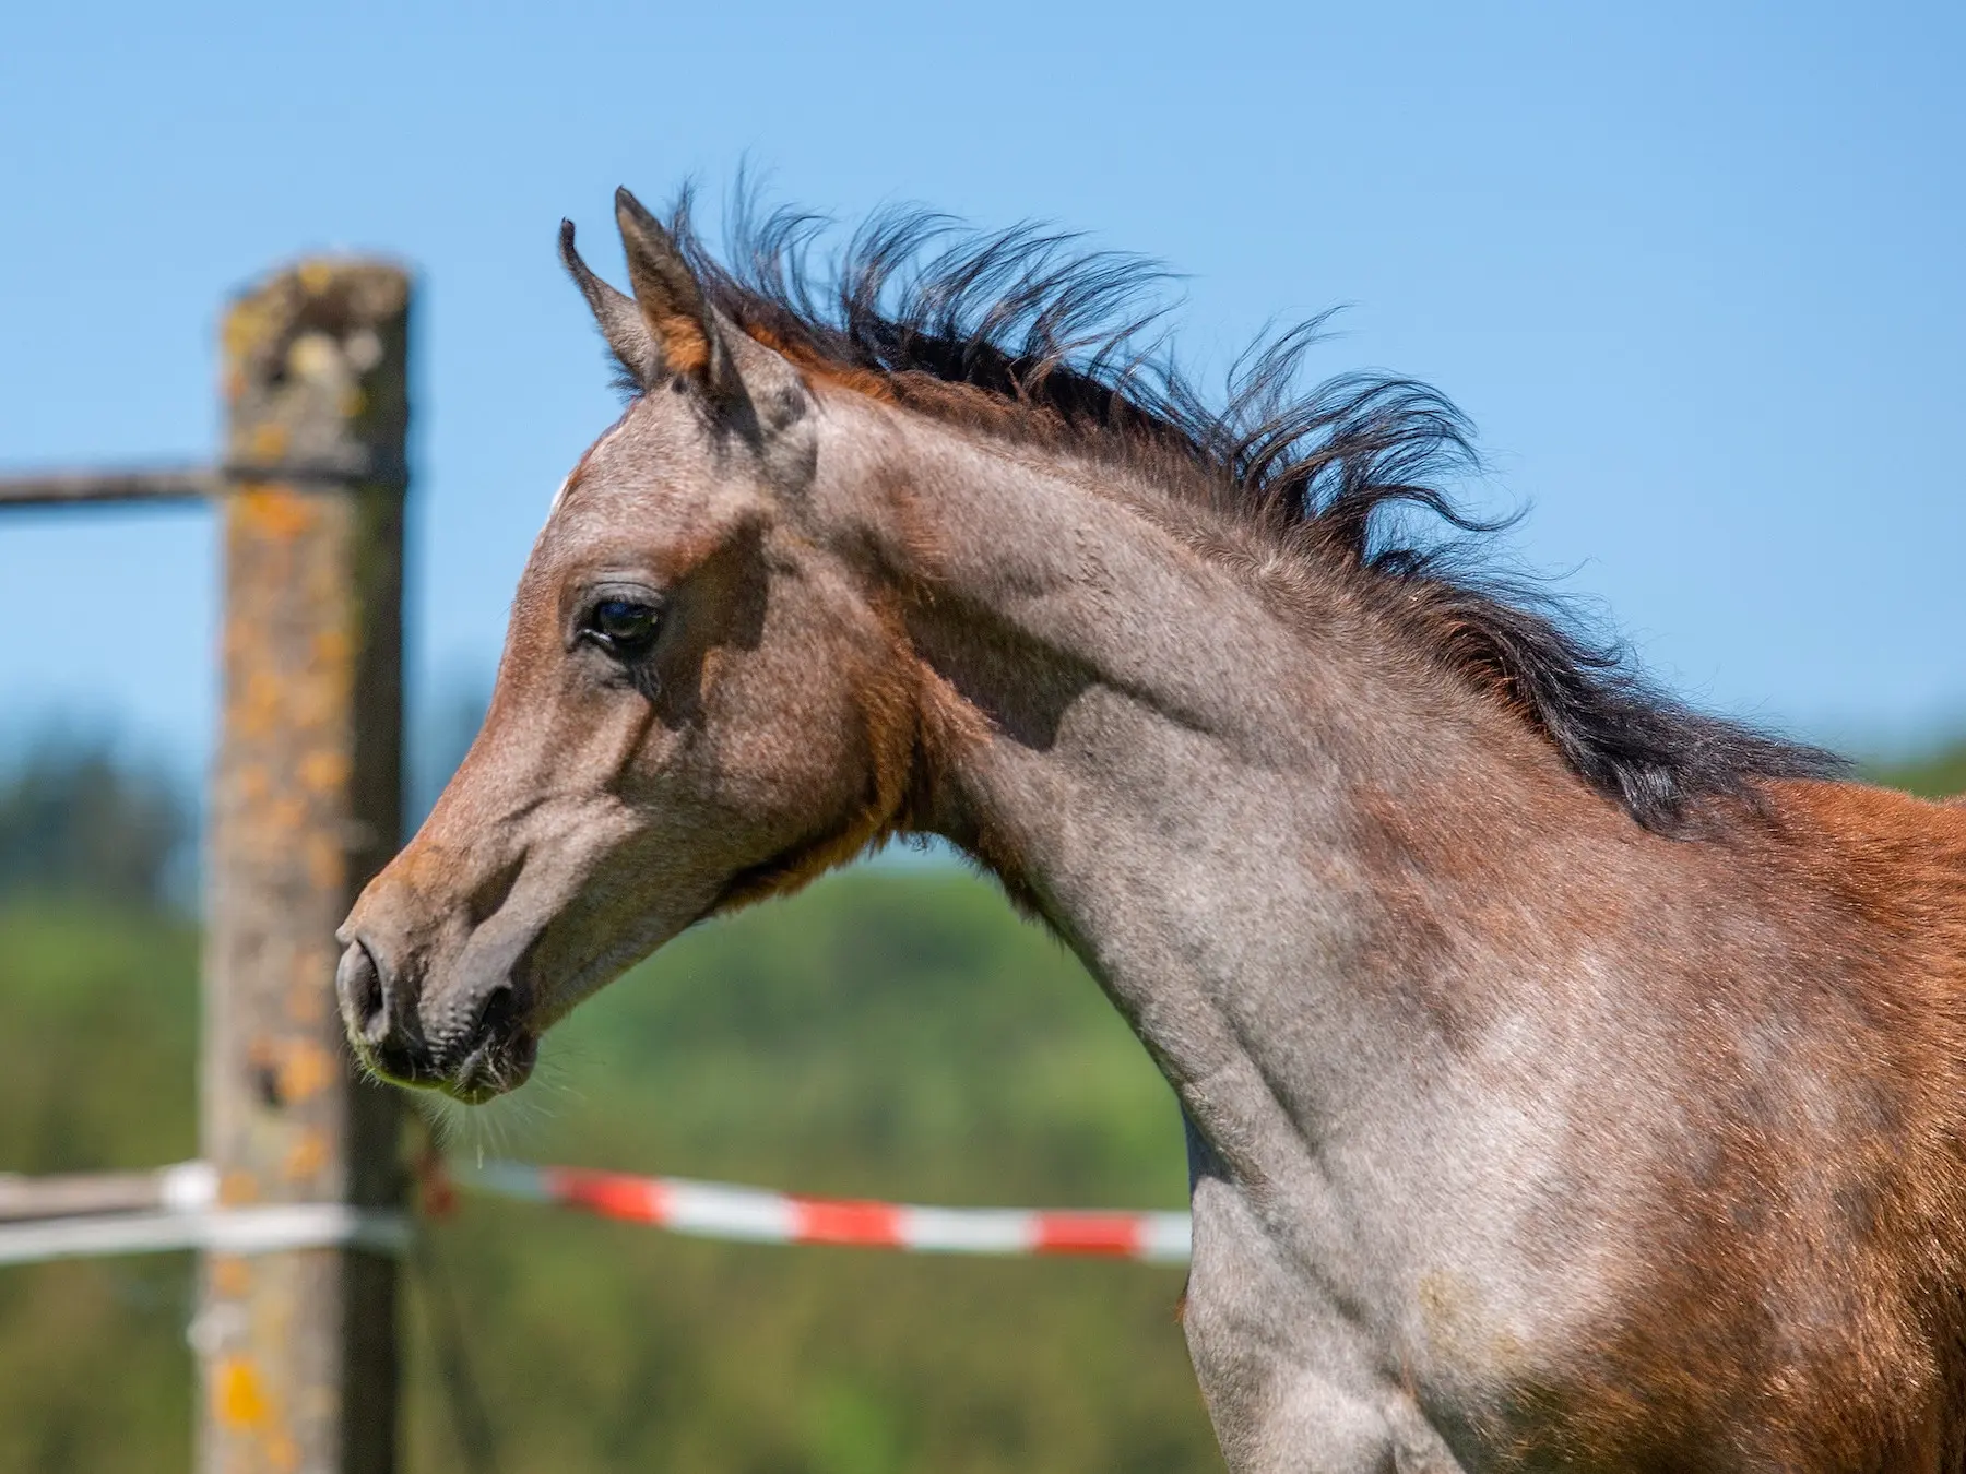
[[1278,544],[1396,590],[1453,668],[1648,829],[1683,831],[1712,798],[1756,806],[1762,778],[1840,770],[1828,753],[1657,692],[1545,592],[1473,568],[1467,539],[1402,539],[1414,511],[1463,535],[1498,531],[1441,489],[1474,464],[1469,425],[1435,389],[1382,373],[1300,391],[1323,318],[1246,356],[1213,403],[1148,336],[1166,279],[1150,263],[1034,226],[977,236],[898,210],[816,267],[824,228],[792,210],[739,210],[725,265],[690,228],[688,197],[670,218],[710,303],[804,368],[971,425],[1172,456],[1199,472],[1176,480]]

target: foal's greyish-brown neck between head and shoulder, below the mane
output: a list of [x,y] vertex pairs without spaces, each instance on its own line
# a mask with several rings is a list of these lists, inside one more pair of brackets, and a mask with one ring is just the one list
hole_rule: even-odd
[[1476,831],[1506,855],[1575,784],[1355,574],[1270,588],[1125,468],[828,419],[822,515],[873,544],[954,708],[914,822],[1066,937],[1217,1148],[1274,1140],[1278,1110],[1317,1132],[1345,1069],[1305,1049],[1357,1048],[1360,973],[1441,930],[1437,857]]

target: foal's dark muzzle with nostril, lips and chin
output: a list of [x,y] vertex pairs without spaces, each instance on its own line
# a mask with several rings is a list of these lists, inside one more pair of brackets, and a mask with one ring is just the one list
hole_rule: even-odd
[[427,1020],[417,996],[423,989],[409,987],[358,935],[342,953],[334,992],[356,1055],[397,1085],[438,1089],[478,1105],[533,1073],[539,1040],[525,1028],[509,979],[466,989]]

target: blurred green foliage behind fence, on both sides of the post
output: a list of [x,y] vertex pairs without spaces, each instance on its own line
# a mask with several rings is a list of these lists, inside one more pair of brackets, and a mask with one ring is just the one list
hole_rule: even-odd
[[[0,1169],[195,1152],[195,937],[0,910]],[[1180,1114],[995,886],[861,869],[688,934],[541,1077],[440,1122],[509,1154],[928,1203],[1180,1207]],[[1219,1468],[1178,1270],[670,1238],[466,1199],[433,1230],[503,1474]],[[0,1270],[0,1470],[189,1468],[185,1258]],[[468,1464],[407,1311],[407,1458]]]

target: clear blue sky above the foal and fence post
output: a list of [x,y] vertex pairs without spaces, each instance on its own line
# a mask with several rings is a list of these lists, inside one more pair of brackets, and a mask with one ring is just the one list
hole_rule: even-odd
[[[1516,537],[1693,698],[1864,747],[1966,729],[1966,12],[1026,4],[16,8],[0,466],[199,458],[224,295],[318,248],[423,281],[413,674],[495,658],[613,417],[552,255],[617,183],[749,159],[1162,257],[1221,362],[1437,381]],[[210,739],[202,513],[0,519],[0,729]]]

